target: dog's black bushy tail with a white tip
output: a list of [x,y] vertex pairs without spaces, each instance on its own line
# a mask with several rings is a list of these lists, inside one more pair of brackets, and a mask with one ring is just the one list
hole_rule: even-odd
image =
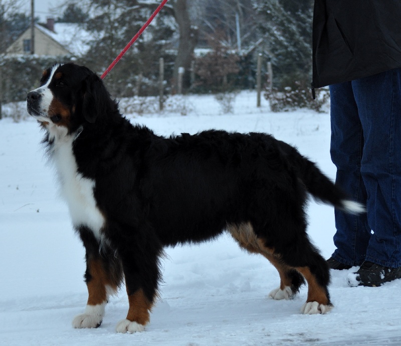
[[281,141],[280,147],[289,162],[298,171],[298,176],[305,185],[306,190],[314,198],[351,214],[359,214],[366,211],[363,204],[349,199],[342,189],[324,175],[313,162],[302,156],[297,149]]

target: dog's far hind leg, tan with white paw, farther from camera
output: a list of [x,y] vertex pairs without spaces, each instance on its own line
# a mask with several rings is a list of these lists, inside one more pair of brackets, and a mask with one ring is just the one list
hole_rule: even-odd
[[256,237],[251,223],[229,224],[227,229],[241,248],[263,255],[279,272],[280,286],[269,293],[271,298],[290,299],[299,292],[299,288],[305,283],[302,275],[275,256],[273,249],[264,246],[263,241]]

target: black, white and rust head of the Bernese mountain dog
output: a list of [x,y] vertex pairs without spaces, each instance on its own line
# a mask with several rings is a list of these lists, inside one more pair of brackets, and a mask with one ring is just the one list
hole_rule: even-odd
[[[29,92],[27,108],[46,129],[74,132],[95,123],[115,106],[102,80],[84,66],[56,64],[43,71],[40,87]],[[49,130],[50,131],[50,130]]]

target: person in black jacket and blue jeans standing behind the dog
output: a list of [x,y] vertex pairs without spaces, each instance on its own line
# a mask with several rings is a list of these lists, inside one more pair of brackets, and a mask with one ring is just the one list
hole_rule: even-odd
[[315,0],[314,88],[329,85],[336,184],[366,213],[335,211],[330,268],[351,286],[401,278],[401,1]]

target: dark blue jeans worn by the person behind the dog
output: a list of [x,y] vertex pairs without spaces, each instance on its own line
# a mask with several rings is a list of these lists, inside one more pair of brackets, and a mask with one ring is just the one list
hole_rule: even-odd
[[335,210],[333,258],[401,266],[401,68],[330,85],[336,184],[366,214]]

